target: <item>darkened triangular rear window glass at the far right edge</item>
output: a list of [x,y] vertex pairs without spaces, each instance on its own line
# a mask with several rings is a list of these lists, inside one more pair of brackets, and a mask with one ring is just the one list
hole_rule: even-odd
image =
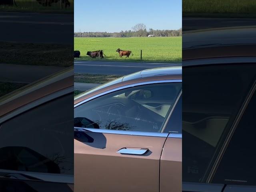
[[[214,183],[256,185],[256,92],[252,96],[220,161]],[[246,174],[244,174],[246,170]]]

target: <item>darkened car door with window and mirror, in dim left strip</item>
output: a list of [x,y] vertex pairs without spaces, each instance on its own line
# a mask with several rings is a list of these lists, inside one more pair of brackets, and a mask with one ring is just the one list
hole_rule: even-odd
[[73,191],[72,100],[70,87],[0,118],[0,191]]

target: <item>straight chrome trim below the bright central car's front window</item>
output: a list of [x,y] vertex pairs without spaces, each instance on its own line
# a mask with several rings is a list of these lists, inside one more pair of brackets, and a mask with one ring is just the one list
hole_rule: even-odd
[[74,127],[74,129],[82,132],[96,132],[96,133],[108,133],[108,134],[120,134],[120,135],[153,136],[153,137],[165,137],[165,138],[168,136],[168,133],[159,133],[159,132],[108,130],[108,129],[94,129],[94,128],[80,128],[80,127]]

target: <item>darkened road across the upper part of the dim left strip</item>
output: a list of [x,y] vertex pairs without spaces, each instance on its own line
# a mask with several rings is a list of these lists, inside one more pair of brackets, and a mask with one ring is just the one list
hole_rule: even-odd
[[72,14],[0,12],[0,41],[74,43]]

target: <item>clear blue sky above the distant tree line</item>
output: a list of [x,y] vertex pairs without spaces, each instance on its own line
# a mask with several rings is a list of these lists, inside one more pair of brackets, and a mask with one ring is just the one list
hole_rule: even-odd
[[182,27],[182,0],[75,0],[74,32],[120,32],[144,23],[147,30]]

